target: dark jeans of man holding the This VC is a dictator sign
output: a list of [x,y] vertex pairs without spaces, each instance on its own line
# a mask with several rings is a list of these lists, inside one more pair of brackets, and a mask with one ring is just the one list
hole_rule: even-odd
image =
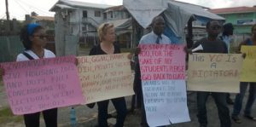
[[226,102],[226,93],[217,92],[197,92],[197,118],[202,126],[207,126],[207,107],[206,102],[208,96],[212,94],[212,97],[218,107],[218,118],[220,120],[221,127],[230,127],[230,110]]

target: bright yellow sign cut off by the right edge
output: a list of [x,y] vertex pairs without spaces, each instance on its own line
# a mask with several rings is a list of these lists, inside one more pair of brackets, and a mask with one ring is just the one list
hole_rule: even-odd
[[256,82],[256,46],[241,46],[241,52],[246,54],[241,67],[241,81]]

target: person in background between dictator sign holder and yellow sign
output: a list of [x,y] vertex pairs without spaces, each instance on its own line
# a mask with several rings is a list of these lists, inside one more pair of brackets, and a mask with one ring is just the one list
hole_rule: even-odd
[[[230,43],[232,42],[232,36],[233,36],[234,27],[232,23],[226,23],[223,26],[223,33],[222,36],[220,36],[220,39],[226,43],[228,53],[230,54]],[[227,103],[230,105],[234,104],[234,101],[230,98],[230,93],[227,93]]]

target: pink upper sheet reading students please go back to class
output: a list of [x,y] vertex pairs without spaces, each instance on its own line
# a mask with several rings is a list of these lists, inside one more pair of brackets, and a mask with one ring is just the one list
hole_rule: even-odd
[[185,79],[183,45],[140,44],[139,63],[142,80]]

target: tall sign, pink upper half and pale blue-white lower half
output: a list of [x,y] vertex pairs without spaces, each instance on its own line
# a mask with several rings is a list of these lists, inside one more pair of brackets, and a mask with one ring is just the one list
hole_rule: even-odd
[[149,126],[190,120],[183,46],[140,44],[143,100]]

